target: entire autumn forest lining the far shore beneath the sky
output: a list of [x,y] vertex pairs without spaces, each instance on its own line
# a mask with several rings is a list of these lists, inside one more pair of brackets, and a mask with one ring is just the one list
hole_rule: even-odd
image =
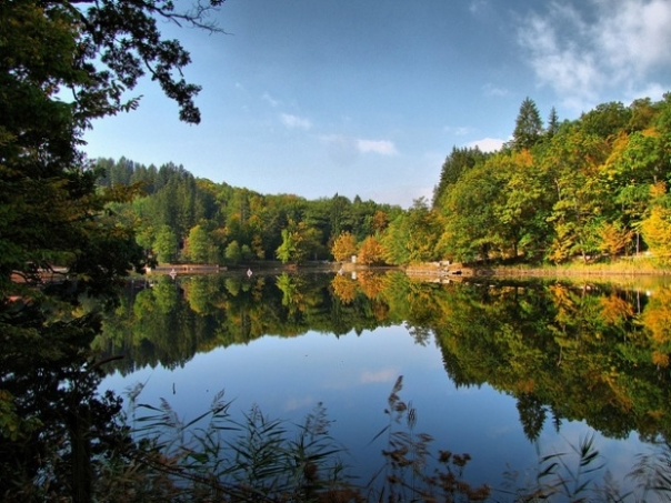
[[527,98],[493,153],[453,147],[432,201],[260,194],[172,163],[98,159],[100,187],[132,185],[110,209],[159,263],[251,260],[405,265],[452,260],[562,263],[671,253],[671,94],[604,103],[543,124]]

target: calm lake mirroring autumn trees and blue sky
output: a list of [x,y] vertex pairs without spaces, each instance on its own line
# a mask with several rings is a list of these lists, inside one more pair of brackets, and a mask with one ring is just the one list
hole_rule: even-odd
[[[439,450],[469,453],[465,480],[488,483],[498,501],[531,487],[545,455],[562,454],[552,461],[565,462],[570,479],[590,435],[599,459],[587,467],[604,465],[589,475],[601,485],[611,476],[632,489],[638,456],[665,455],[671,289],[662,280],[151,280],[129,286],[94,342],[104,355],[124,355],[102,389],[123,394],[142,383],[139,402],[164,399],[186,421],[221,390],[237,420],[258,406],[300,424],[322,403],[360,485],[389,473],[389,425],[432,436],[428,472]],[[407,414],[397,424],[384,412],[394,383],[398,401],[417,412],[412,429]]]

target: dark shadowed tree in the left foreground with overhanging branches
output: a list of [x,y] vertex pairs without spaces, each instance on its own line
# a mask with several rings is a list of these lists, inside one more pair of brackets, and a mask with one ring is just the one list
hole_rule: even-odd
[[[92,501],[92,445],[111,453],[111,442],[128,441],[114,421],[118,400],[96,394],[100,362],[88,348],[100,320],[80,299],[113,302],[119,279],[142,270],[133,230],[106,208],[130,201],[134,191],[97,191],[102,173],[79,145],[93,120],[138,105],[127,92],[146,72],[177,102],[181,120],[199,122],[199,88],[181,78],[189,54],[178,41],[162,40],[157,23],[162,18],[216,31],[206,14],[220,3],[179,12],[168,0],[0,2],[4,499],[46,500],[40,481],[49,473],[51,496]],[[54,265],[66,273],[44,284],[44,271]]]

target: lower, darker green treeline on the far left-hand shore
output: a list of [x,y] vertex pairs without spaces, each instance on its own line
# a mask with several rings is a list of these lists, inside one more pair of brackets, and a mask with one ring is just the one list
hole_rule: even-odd
[[342,195],[309,201],[260,194],[194,178],[172,163],[146,167],[126,158],[99,159],[102,187],[138,184],[144,192],[112,205],[138,230],[138,242],[159,262],[237,264],[249,260],[302,262],[331,256],[337,237],[363,241],[382,231],[400,207]]

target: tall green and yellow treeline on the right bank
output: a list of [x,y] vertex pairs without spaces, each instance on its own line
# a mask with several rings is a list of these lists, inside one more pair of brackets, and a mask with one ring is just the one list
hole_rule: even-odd
[[433,210],[442,256],[563,262],[649,250],[671,253],[671,94],[659,102],[601,104],[543,128],[535,103],[520,108],[498,153],[454,149]]

